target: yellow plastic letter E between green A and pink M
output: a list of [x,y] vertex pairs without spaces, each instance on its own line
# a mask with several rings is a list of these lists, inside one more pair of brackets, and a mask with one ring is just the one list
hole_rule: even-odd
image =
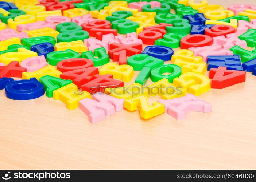
[[73,83],[53,91],[53,99],[61,100],[69,110],[77,108],[79,100],[84,98],[90,99],[91,95],[86,91],[79,92],[77,86]]

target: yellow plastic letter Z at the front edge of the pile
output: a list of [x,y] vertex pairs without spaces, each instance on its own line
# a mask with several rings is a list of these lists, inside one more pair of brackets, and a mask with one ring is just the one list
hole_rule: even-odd
[[137,108],[140,111],[140,116],[144,119],[152,118],[164,113],[164,105],[155,102],[150,106],[146,95],[138,95],[136,97],[124,101],[124,108],[129,111],[135,111]]

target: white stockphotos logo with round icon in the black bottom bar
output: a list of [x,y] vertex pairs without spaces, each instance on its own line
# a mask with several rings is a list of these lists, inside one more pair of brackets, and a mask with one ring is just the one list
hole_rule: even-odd
[[70,173],[59,173],[59,172],[53,172],[53,173],[48,173],[48,172],[41,172],[41,173],[23,173],[23,172],[18,172],[18,173],[13,173],[7,172],[4,174],[2,179],[4,180],[9,180],[9,179],[68,179],[70,178]]

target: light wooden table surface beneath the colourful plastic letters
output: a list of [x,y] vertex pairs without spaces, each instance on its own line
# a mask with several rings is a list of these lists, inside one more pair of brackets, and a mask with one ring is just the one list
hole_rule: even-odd
[[[225,7],[239,2],[209,0]],[[134,83],[135,72],[125,86]],[[79,108],[70,111],[59,100],[11,100],[1,90],[0,169],[255,169],[256,76],[249,72],[246,82],[199,98],[213,112],[146,120],[124,109],[91,124]]]

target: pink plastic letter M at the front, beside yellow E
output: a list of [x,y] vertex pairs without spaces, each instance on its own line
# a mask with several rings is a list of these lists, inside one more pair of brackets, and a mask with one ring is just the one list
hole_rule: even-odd
[[84,98],[79,101],[79,108],[93,124],[105,119],[106,116],[115,114],[116,111],[123,110],[123,106],[124,99],[117,99],[101,92],[93,94],[92,99]]

